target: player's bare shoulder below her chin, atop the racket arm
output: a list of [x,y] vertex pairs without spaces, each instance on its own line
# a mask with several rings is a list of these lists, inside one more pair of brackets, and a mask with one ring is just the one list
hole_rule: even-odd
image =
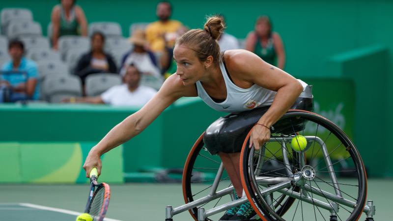
[[169,78],[164,82],[160,91],[164,93],[166,96],[171,96],[174,98],[180,97],[196,97],[197,89],[195,85],[187,85],[185,86],[182,80],[176,74],[172,74]]

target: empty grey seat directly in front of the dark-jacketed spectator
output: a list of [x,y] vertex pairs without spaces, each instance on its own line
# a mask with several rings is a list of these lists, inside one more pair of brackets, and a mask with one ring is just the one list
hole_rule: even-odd
[[86,95],[98,96],[114,85],[121,84],[121,76],[111,73],[92,74],[86,77]]

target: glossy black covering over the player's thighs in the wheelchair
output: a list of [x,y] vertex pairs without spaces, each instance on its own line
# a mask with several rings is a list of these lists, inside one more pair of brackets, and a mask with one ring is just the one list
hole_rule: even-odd
[[[255,108],[238,114],[231,113],[214,121],[205,131],[203,142],[211,155],[218,152],[237,153],[254,124],[270,106]],[[313,99],[299,97],[291,109],[313,110]]]

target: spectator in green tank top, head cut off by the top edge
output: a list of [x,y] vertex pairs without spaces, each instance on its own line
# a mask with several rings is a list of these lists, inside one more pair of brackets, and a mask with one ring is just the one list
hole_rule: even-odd
[[57,40],[63,35],[87,36],[87,20],[76,0],[60,0],[52,10],[53,48],[58,49]]

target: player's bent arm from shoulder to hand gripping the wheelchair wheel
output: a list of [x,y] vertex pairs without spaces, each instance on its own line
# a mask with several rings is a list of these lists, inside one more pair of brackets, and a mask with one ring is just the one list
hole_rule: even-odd
[[260,145],[263,145],[270,139],[269,128],[293,105],[300,93],[302,93],[303,86],[291,75],[280,68],[266,63],[251,52],[245,50],[228,52],[227,56],[230,61],[230,64],[227,64],[228,67],[242,73],[244,81],[256,83],[264,88],[277,91],[271,107],[259,119],[258,124],[253,127],[250,146],[254,145],[255,149],[258,150]]

